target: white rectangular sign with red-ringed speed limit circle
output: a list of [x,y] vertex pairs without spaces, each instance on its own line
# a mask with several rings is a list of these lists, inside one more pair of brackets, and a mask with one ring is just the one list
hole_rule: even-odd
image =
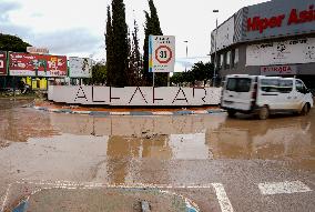
[[175,37],[149,37],[149,71],[174,72],[175,64]]

